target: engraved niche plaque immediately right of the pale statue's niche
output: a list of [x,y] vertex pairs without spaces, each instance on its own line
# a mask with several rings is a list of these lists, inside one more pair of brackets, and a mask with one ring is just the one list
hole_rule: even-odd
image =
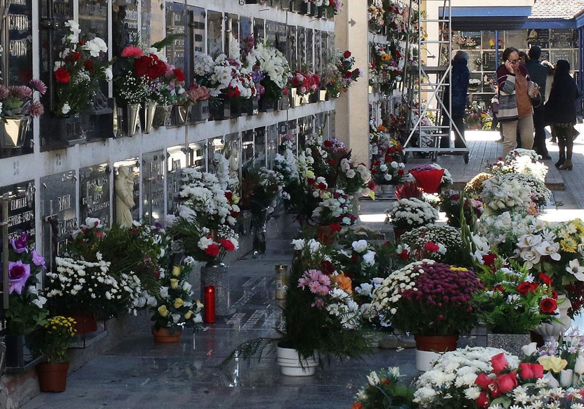
[[164,151],[142,155],[142,216],[150,224],[164,220]]

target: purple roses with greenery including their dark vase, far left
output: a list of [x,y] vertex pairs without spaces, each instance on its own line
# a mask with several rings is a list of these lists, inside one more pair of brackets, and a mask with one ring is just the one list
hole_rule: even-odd
[[[9,308],[0,310],[0,318],[6,321],[6,366],[22,369],[29,363],[25,362],[25,346],[31,345],[37,328],[44,325],[48,316],[44,307],[47,299],[37,288],[44,258],[29,249],[25,233],[10,241],[8,259]],[[38,356],[33,354],[32,358]]]

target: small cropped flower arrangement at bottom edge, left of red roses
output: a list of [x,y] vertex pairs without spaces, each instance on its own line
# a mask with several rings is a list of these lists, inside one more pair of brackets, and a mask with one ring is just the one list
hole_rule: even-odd
[[412,409],[413,389],[401,384],[399,368],[371,371],[367,385],[357,392],[352,409]]

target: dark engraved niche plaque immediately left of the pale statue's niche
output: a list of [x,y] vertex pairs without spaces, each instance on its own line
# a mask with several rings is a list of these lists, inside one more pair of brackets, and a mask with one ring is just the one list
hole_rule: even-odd
[[79,169],[79,219],[87,217],[101,220],[110,226],[110,174],[108,164],[99,164]]

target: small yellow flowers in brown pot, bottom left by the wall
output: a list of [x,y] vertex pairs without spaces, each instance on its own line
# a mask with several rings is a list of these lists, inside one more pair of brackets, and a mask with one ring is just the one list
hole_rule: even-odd
[[44,324],[40,345],[47,362],[36,367],[41,392],[62,392],[67,388],[69,362],[65,360],[65,352],[75,332],[75,320],[71,317],[51,317]]

